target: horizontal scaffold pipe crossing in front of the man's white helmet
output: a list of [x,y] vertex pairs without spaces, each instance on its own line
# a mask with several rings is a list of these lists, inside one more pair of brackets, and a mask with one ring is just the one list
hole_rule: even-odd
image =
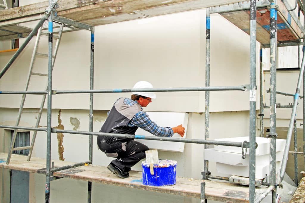
[[143,88],[143,89],[106,89],[106,90],[53,90],[52,94],[74,93],[118,93],[118,92],[181,92],[181,91],[249,91],[249,85],[218,86],[218,87],[168,87],[168,88]]

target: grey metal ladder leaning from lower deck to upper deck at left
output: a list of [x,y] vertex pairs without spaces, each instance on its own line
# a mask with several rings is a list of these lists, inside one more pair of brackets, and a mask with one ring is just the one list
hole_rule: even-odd
[[[33,66],[34,66],[34,62],[35,62],[35,59],[36,59],[37,55],[40,55],[42,57],[46,57],[46,59],[48,59],[48,53],[38,52],[38,45],[39,45],[41,35],[48,36],[48,33],[42,32],[42,30],[44,30],[47,26],[48,26],[48,21],[45,21],[45,23],[38,30],[35,45],[34,45],[34,51],[33,51],[33,54],[32,54],[31,61],[30,61],[30,67],[29,67],[29,72],[28,72],[28,76],[27,76],[27,84],[26,84],[26,87],[25,87],[25,91],[28,90],[30,79],[31,79],[32,75],[41,76],[41,77],[48,77],[48,74],[33,72]],[[54,67],[54,62],[55,62],[55,59],[56,59],[60,39],[61,39],[61,36],[62,36],[62,33],[63,33],[64,24],[53,22],[53,27],[59,27],[59,32],[58,32],[58,35],[53,35],[53,40],[56,40],[56,45],[55,45],[53,55],[52,55],[52,70],[53,70],[53,67]],[[45,91],[46,90],[47,90],[47,85],[45,87]],[[46,94],[42,94],[41,105],[40,105],[40,109],[38,111],[24,111],[23,110],[23,105],[24,105],[24,102],[25,102],[25,98],[26,98],[26,94],[23,94],[15,126],[19,125],[22,114],[24,114],[24,113],[35,113],[35,114],[38,114],[37,119],[36,119],[36,124],[35,124],[35,127],[37,128],[39,126],[39,123],[40,123],[43,106],[45,104]],[[10,146],[10,149],[9,149],[9,154],[8,154],[8,157],[7,157],[7,160],[6,160],[6,164],[9,164],[10,159],[11,159],[11,155],[12,155],[13,151],[15,151],[15,150],[30,149],[29,154],[27,156],[27,161],[30,161],[32,151],[33,151],[33,147],[34,147],[34,143],[35,143],[35,139],[36,139],[36,135],[37,135],[37,130],[34,131],[30,146],[23,146],[23,147],[15,147],[14,148],[15,140],[16,140],[16,137],[17,137],[17,132],[18,132],[18,129],[15,129],[14,133],[13,133],[13,136],[12,136],[11,146]]]

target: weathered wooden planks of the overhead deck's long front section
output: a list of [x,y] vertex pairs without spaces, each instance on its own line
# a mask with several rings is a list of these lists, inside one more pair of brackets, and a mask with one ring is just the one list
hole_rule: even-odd
[[[153,10],[153,16],[170,14],[175,12],[183,12],[193,9],[202,9],[210,6],[217,6],[229,3],[242,2],[239,0],[112,0],[112,1],[97,1],[96,4],[84,5],[79,7],[77,0],[61,0],[58,2],[59,16],[64,16],[72,20],[87,22],[93,26],[113,23],[112,16],[122,16],[117,22],[145,18],[139,16],[134,11],[149,11]],[[169,8],[168,6],[173,6]],[[0,11],[0,21],[12,20],[42,14],[48,7],[48,1],[24,5],[12,9]],[[159,9],[156,9],[159,8]],[[131,17],[132,16],[132,17]],[[109,21],[107,18],[109,17]],[[106,20],[101,20],[106,18]]]

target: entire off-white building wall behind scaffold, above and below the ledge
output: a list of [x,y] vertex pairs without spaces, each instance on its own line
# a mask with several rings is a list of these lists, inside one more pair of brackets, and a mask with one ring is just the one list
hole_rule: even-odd
[[[139,80],[147,80],[156,88],[204,87],[205,16],[205,10],[199,10],[95,27],[94,89],[131,88]],[[20,45],[23,41],[24,39],[20,39]],[[47,39],[44,41],[44,47],[47,48]],[[33,47],[34,39],[1,78],[1,91],[24,90]],[[249,36],[246,33],[220,15],[212,14],[210,86],[249,84],[249,49]],[[1,53],[0,67],[4,67],[12,55],[12,52]],[[258,57],[257,52],[257,109],[259,109]],[[34,69],[45,72],[42,69],[47,69],[46,60],[43,62],[38,59]],[[90,32],[64,33],[53,70],[52,89],[89,89],[89,70]],[[296,84],[287,84],[285,81],[294,81],[297,76],[294,72],[288,75],[289,79],[285,78],[286,76],[282,78],[283,87],[287,87],[287,92],[294,93]],[[268,80],[269,75],[266,74],[265,88],[268,88]],[[278,84],[279,80],[281,79],[278,79]],[[36,81],[30,84],[30,87],[33,87],[33,90],[43,90],[45,84],[45,81]],[[279,91],[285,91],[279,87],[280,85],[278,85]],[[156,94],[157,99],[153,100],[145,110],[190,112],[186,138],[202,139],[204,137],[204,113],[200,113],[205,110],[204,92]],[[130,96],[130,93],[94,94],[93,131],[99,131],[106,119],[107,110],[121,96]],[[41,97],[30,95],[27,97],[29,100],[25,103],[25,108],[38,108]],[[266,105],[268,105],[268,97],[269,94],[265,95]],[[16,108],[19,108],[20,100],[21,95],[0,95],[1,125],[15,125],[18,113]],[[281,102],[282,105],[287,105],[285,102]],[[62,124],[65,130],[88,131],[89,94],[53,95],[52,108],[52,127]],[[61,121],[58,119],[59,109],[61,109]],[[248,110],[249,92],[210,92],[210,140],[249,135]],[[264,113],[267,118],[268,110],[265,109]],[[280,115],[279,110],[277,115]],[[297,115],[301,113],[298,112]],[[72,125],[70,118],[77,119],[80,122],[79,127]],[[284,118],[287,122],[290,115],[285,112]],[[35,115],[25,115],[22,117],[20,126],[34,126],[34,123]],[[259,118],[257,123],[259,127]],[[40,125],[47,125],[46,110]],[[267,120],[265,126],[268,126]],[[34,157],[45,158],[46,156],[45,134],[38,132]],[[2,130],[1,135],[3,135]],[[88,145],[87,135],[64,134],[63,157],[66,161],[86,161]],[[52,134],[52,159],[57,159],[59,156],[57,147],[57,135]],[[203,170],[203,148],[204,146],[200,144],[186,143],[184,153],[159,151],[159,157],[174,159],[178,162],[177,176],[200,179]],[[107,158],[97,150],[94,136],[93,164],[107,166],[111,160],[112,158]],[[140,163],[132,170],[142,170]],[[223,176],[217,173],[216,164],[213,162],[210,162],[209,170],[215,176]],[[84,181],[59,179],[51,182],[50,189],[51,202],[86,202],[87,199],[87,182]],[[117,195],[118,190],[120,195]],[[45,176],[31,174],[30,202],[42,202],[44,199]],[[168,202],[168,200],[198,202],[198,199],[192,200],[183,196],[93,183],[92,202],[101,200],[103,202]]]

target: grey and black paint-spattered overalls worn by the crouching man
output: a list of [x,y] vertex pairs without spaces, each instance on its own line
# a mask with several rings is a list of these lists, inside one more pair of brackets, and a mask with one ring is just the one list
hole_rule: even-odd
[[[113,105],[109,115],[99,132],[117,134],[135,134],[137,126],[127,124],[136,113],[142,111],[140,104],[129,106],[124,103],[125,97],[119,98]],[[145,151],[149,148],[131,138],[97,136],[97,145],[108,157],[116,157],[111,163],[122,173],[145,158]]]

